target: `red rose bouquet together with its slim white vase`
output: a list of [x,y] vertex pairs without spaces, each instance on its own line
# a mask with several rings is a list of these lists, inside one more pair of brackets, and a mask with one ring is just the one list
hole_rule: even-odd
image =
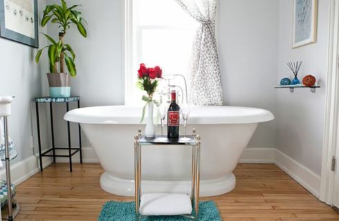
[[[153,118],[153,104],[155,104],[157,107],[159,106],[158,102],[156,102],[153,99],[153,95],[156,92],[156,87],[158,86],[158,79],[161,79],[163,75],[163,70],[159,66],[155,66],[154,68],[147,68],[145,64],[140,64],[140,68],[138,70],[138,82],[136,85],[141,90],[145,90],[148,97],[143,95],[143,101],[146,102],[144,108],[143,108],[143,115],[141,117],[141,122],[143,122],[144,116],[145,116],[145,109],[146,106],[149,106],[149,119]],[[158,122],[158,116],[159,111],[156,112],[156,122]],[[141,123],[140,122],[140,123]],[[152,124],[153,125],[153,119],[151,122],[147,123],[147,125]],[[147,130],[147,126],[145,129],[145,135],[147,135],[147,131],[149,131],[149,136],[152,137],[155,134],[154,126],[149,126]]]

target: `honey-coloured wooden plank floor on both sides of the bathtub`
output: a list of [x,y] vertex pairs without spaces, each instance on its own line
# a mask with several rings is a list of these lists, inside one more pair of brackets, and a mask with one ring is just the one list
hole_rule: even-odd
[[[97,220],[107,200],[130,201],[100,189],[99,164],[48,166],[17,188],[19,220]],[[239,164],[237,187],[203,200],[217,203],[223,220],[339,220],[339,214],[313,197],[274,164]]]

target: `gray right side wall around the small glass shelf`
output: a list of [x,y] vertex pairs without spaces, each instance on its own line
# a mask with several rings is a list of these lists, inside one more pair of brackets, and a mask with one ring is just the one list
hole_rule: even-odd
[[279,53],[277,81],[292,77],[288,61],[304,61],[300,79],[312,74],[322,88],[316,93],[308,89],[277,90],[277,148],[320,175],[325,90],[327,81],[327,50],[329,30],[329,0],[319,1],[318,41],[291,49],[293,0],[280,0]]

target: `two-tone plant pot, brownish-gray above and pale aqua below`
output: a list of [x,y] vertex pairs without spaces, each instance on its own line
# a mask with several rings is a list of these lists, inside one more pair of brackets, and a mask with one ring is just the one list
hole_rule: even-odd
[[68,73],[47,73],[51,97],[70,97],[71,79]]

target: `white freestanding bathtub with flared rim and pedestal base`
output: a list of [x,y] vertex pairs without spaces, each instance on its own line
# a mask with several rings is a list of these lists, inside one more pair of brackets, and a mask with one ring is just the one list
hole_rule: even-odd
[[[134,195],[134,135],[138,128],[145,128],[139,124],[141,111],[132,106],[95,106],[64,115],[81,124],[104,169],[100,185],[109,193]],[[192,108],[187,134],[196,128],[201,135],[201,196],[221,195],[235,188],[232,171],[241,153],[257,124],[272,119],[271,112],[258,108]],[[157,134],[160,131],[158,125]],[[164,131],[166,134],[166,126]],[[190,193],[191,151],[185,146],[143,147],[143,193]]]

